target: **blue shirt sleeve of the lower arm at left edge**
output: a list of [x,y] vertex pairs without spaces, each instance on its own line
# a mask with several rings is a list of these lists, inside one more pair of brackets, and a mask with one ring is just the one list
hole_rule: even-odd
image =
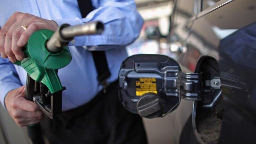
[[8,59],[0,58],[0,101],[4,107],[6,94],[19,87],[21,87],[21,82],[13,63]]

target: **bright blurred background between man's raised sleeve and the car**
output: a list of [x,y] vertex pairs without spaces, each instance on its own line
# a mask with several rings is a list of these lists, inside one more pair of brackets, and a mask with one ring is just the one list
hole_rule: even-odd
[[[137,9],[144,19],[139,38],[127,47],[128,55],[165,54],[171,55],[166,38],[170,30],[174,0],[135,0]],[[148,37],[155,35],[156,37]]]

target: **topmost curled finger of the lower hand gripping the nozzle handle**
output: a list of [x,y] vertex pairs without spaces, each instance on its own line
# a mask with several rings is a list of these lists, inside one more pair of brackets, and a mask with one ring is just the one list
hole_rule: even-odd
[[19,103],[17,103],[17,107],[25,110],[25,111],[29,111],[29,112],[35,112],[40,110],[39,107],[32,101],[26,100],[24,97],[19,97],[18,100]]

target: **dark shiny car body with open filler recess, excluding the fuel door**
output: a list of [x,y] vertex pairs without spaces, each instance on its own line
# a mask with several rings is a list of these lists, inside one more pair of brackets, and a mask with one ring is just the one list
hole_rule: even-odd
[[203,76],[202,101],[169,114],[173,143],[256,143],[256,1],[176,0],[170,29],[182,71]]

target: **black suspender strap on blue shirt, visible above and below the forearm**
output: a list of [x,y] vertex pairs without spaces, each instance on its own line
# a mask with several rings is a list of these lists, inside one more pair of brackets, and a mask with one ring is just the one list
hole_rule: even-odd
[[[82,18],[85,18],[91,11],[93,11],[91,0],[77,0]],[[111,76],[108,69],[108,63],[105,51],[92,51],[94,64],[98,73],[97,80],[104,88],[108,86],[107,79]]]

